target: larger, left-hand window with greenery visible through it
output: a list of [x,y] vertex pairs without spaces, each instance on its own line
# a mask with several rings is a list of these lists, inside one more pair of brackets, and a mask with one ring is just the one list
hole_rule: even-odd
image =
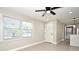
[[4,28],[4,39],[14,38],[20,36],[20,21],[10,18],[4,17],[3,20],[3,28]]

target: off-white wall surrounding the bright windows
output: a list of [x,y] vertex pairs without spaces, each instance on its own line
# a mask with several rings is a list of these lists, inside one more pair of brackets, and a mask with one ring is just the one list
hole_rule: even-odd
[[29,44],[44,40],[44,23],[43,22],[36,21],[32,18],[25,17],[18,13],[14,13],[14,12],[12,13],[6,10],[0,10],[0,13],[3,16],[14,17],[16,19],[32,22],[33,24],[32,37],[30,38],[19,37],[18,39],[14,39],[14,40],[3,40],[0,42],[0,50],[10,50],[10,49],[14,49],[17,47],[29,45]]

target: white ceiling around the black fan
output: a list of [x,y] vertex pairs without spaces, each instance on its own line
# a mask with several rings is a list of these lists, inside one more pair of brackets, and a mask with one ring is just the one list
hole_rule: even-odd
[[[37,20],[41,20],[43,22],[57,19],[65,24],[73,24],[73,18],[79,18],[78,7],[63,7],[60,9],[56,9],[54,10],[56,15],[46,14],[45,17],[42,17],[42,14],[44,12],[35,12],[35,10],[41,10],[44,9],[44,7],[1,7],[0,9],[13,11]],[[72,14],[69,13],[70,11],[72,11]],[[77,23],[79,23],[79,19],[77,19]]]

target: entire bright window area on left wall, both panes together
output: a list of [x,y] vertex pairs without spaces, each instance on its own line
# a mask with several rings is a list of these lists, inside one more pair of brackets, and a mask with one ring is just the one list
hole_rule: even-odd
[[4,39],[32,36],[32,24],[10,17],[3,19]]

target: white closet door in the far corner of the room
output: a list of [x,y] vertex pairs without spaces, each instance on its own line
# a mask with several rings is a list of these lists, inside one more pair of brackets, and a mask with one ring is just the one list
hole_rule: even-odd
[[46,40],[46,42],[53,41],[53,24],[52,24],[52,22],[45,24],[45,40]]

